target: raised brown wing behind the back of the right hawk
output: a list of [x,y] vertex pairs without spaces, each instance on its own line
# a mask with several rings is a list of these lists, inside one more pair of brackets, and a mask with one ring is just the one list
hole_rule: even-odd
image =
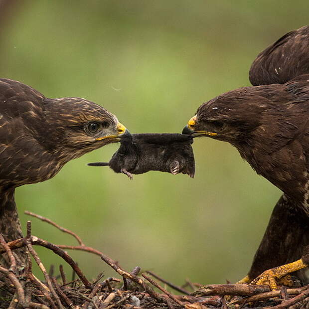
[[309,73],[309,26],[288,32],[264,49],[253,61],[249,80],[253,86],[284,84]]

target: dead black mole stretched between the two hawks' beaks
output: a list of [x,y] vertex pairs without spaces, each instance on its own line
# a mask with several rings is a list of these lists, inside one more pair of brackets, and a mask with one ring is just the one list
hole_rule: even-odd
[[119,150],[109,162],[88,163],[91,166],[109,166],[116,173],[124,173],[130,179],[132,174],[143,174],[159,170],[176,175],[195,174],[193,139],[177,133],[142,133],[122,139]]

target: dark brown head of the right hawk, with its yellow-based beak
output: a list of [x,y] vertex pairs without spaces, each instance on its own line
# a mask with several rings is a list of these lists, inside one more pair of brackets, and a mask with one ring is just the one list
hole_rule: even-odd
[[182,133],[211,137],[234,146],[246,141],[264,123],[272,105],[262,89],[256,88],[260,87],[239,88],[203,103]]

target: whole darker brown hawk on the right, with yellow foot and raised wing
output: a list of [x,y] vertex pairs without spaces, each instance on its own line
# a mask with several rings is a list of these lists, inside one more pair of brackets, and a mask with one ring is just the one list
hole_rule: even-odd
[[278,280],[309,265],[308,254],[302,256],[309,245],[309,74],[304,73],[309,73],[309,26],[258,55],[250,69],[254,86],[202,104],[183,130],[230,143],[283,191],[242,280],[273,290]]

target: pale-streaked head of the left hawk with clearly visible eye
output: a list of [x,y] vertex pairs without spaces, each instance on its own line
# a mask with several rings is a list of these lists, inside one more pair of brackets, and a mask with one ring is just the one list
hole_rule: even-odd
[[[117,117],[102,106],[82,98],[46,99],[45,145],[74,157],[130,136]],[[47,140],[49,139],[49,141]]]

